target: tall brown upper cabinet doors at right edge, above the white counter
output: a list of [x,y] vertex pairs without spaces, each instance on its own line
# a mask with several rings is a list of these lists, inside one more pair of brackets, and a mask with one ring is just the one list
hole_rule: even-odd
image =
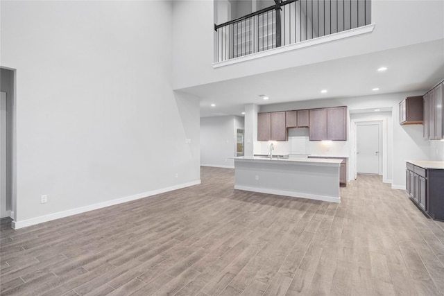
[[428,140],[444,139],[444,82],[439,83],[422,96],[424,106],[424,138]]

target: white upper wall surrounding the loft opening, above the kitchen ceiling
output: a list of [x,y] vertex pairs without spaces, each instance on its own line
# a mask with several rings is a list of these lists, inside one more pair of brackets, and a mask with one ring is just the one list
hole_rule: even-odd
[[213,1],[176,1],[174,9],[175,89],[439,40],[444,28],[444,1],[372,1],[373,33],[213,69]]

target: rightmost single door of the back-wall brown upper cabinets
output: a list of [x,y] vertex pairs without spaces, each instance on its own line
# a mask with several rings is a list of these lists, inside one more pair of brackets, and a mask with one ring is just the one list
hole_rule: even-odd
[[347,140],[347,107],[327,108],[327,140]]

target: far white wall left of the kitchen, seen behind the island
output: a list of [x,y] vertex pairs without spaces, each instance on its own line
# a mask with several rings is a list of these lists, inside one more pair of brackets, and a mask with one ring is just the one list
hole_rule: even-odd
[[200,164],[234,168],[236,129],[244,128],[239,116],[200,118]]

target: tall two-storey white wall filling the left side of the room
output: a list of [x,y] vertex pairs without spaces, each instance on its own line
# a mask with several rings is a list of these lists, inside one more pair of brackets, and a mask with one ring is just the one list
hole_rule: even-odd
[[198,99],[171,88],[172,17],[171,1],[1,1],[16,227],[200,182]]

